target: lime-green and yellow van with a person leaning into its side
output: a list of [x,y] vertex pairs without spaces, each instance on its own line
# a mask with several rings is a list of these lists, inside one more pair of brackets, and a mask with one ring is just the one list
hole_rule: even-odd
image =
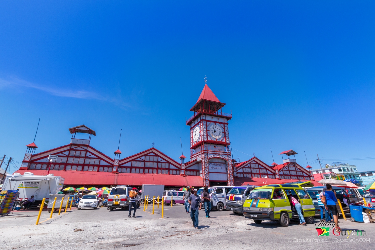
[[246,218],[260,224],[262,220],[279,221],[281,226],[289,226],[290,219],[299,216],[291,204],[290,195],[302,205],[306,223],[314,223],[315,207],[309,194],[297,184],[270,184],[254,188],[243,204]]

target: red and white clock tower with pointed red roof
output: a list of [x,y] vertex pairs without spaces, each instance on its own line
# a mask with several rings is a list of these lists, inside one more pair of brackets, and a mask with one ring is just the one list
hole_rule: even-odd
[[190,162],[199,164],[204,186],[234,185],[228,132],[232,111],[223,113],[224,105],[206,83],[198,101],[190,109],[193,116],[186,121],[190,126]]

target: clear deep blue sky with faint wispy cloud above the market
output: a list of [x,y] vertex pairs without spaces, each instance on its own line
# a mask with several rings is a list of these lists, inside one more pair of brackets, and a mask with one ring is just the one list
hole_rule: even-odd
[[[185,117],[204,86],[232,110],[234,158],[294,149],[314,168],[374,170],[372,1],[2,1],[0,155],[22,161],[96,131],[113,157],[189,157]],[[18,167],[20,164],[17,164]],[[14,167],[13,169],[14,170]]]

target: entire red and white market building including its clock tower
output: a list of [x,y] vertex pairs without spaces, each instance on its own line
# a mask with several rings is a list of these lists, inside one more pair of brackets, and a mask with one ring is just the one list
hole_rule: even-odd
[[[117,149],[114,158],[90,146],[96,132],[85,125],[69,128],[72,134],[67,145],[35,153],[34,143],[27,145],[22,165],[16,172],[34,175],[54,174],[65,178],[65,186],[115,186],[162,184],[166,187],[202,187],[204,185],[266,185],[297,181],[313,181],[311,169],[297,164],[293,150],[282,152],[283,164],[267,165],[257,157],[236,163],[232,160],[229,140],[231,113],[223,113],[220,102],[205,84],[198,101],[186,120],[190,127],[190,161],[184,155],[179,161],[149,148],[121,158]],[[76,138],[89,134],[89,139]],[[49,161],[49,155],[57,160]],[[285,158],[285,159],[284,159]],[[309,166],[308,166],[309,167]]]

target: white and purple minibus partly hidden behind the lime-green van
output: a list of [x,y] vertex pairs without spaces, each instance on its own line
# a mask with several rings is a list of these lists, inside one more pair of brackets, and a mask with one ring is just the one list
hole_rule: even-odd
[[226,194],[225,204],[226,210],[233,211],[238,214],[243,211],[242,205],[249,196],[251,190],[259,186],[236,186]]

